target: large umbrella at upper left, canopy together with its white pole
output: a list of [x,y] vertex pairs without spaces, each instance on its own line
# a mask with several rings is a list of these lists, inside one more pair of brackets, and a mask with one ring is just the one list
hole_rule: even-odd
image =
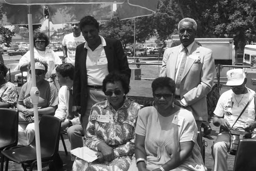
[[[53,24],[80,21],[83,16],[91,15],[98,21],[110,20],[113,15],[113,4],[117,6],[119,19],[151,15],[156,11],[157,0],[0,0],[0,24],[28,25],[30,42],[30,61],[32,88],[30,91],[34,106],[35,139],[37,169],[41,170],[40,137],[38,126],[39,91],[35,82],[35,61],[32,25],[44,22],[44,7],[49,9]],[[26,15],[28,17],[26,17]]]

